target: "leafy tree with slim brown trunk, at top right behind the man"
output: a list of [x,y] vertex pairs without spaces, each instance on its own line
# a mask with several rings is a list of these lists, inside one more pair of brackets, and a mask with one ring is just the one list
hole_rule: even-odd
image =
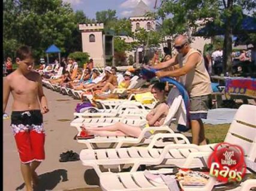
[[173,24],[178,24],[177,26],[182,26],[183,29],[192,29],[192,32],[200,24],[213,23],[225,26],[224,72],[231,74],[232,18],[236,16],[236,20],[233,20],[236,25],[242,20],[242,11],[251,11],[255,7],[254,0],[163,0],[158,14],[162,19],[171,17]]

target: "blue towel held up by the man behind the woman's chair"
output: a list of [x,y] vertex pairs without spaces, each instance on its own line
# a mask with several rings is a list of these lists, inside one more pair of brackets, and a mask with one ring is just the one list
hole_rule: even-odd
[[[155,73],[157,72],[156,69],[146,69],[146,68],[142,68],[141,69],[141,75],[143,76],[143,78],[146,79],[150,79],[153,78],[155,76]],[[189,108],[190,108],[190,102],[189,102],[189,96],[188,96],[188,92],[186,91],[185,87],[180,84],[180,82],[177,82],[175,79],[173,78],[169,78],[169,77],[164,77],[160,79],[161,82],[168,82],[169,84],[173,84],[177,87],[177,89],[180,92],[180,95],[182,96],[184,103],[185,103],[185,107],[186,107],[186,118],[187,118],[187,124],[186,124],[186,128],[180,128],[179,131],[188,131],[189,128],[191,127],[190,125],[190,116],[189,116]]]

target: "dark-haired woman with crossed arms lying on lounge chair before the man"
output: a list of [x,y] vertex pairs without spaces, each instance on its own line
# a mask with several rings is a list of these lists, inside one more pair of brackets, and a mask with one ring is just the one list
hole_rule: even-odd
[[168,113],[168,106],[165,103],[165,84],[161,82],[157,82],[152,87],[153,96],[159,100],[153,110],[147,114],[147,124],[140,126],[132,126],[123,124],[122,122],[118,122],[114,125],[109,125],[106,127],[94,127],[94,128],[86,128],[82,126],[82,128],[87,131],[89,135],[99,135],[99,136],[124,136],[129,135],[132,137],[138,137],[143,130],[143,128],[149,125],[150,127],[155,126],[159,127],[164,124],[164,120]]

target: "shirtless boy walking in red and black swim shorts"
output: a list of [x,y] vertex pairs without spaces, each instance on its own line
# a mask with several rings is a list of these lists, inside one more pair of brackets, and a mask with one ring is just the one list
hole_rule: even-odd
[[13,130],[20,156],[20,168],[26,190],[37,184],[36,168],[44,160],[43,115],[49,112],[47,99],[43,93],[41,76],[32,70],[34,59],[27,46],[17,50],[18,68],[4,78],[3,112],[10,93],[14,102],[11,113]]

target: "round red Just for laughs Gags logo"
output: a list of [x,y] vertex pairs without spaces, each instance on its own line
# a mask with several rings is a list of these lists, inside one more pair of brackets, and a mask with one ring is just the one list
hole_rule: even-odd
[[210,175],[219,181],[242,181],[246,172],[243,150],[241,147],[219,143],[208,160]]

